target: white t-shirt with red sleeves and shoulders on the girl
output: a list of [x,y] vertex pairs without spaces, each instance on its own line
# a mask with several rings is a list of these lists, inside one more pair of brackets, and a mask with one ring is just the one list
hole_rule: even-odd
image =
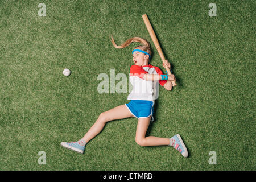
[[130,92],[128,100],[155,101],[158,98],[158,83],[163,86],[167,80],[147,81],[143,79],[146,73],[163,74],[160,68],[151,64],[146,66],[132,65],[129,80],[133,85],[133,90]]

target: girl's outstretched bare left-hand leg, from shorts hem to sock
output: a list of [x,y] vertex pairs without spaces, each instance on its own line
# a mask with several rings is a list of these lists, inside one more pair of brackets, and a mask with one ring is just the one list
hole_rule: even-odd
[[91,139],[96,137],[101,130],[104,128],[106,122],[116,120],[116,119],[123,119],[123,118],[130,118],[134,117],[133,114],[127,109],[126,105],[121,105],[114,107],[104,113],[101,113],[97,119],[97,121],[93,124],[93,126],[87,131],[82,139],[86,143],[88,143]]

